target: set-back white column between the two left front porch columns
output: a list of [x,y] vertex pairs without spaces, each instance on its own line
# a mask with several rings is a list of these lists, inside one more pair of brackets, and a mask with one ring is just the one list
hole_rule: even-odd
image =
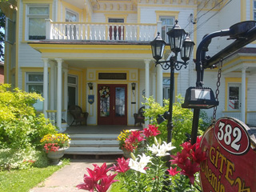
[[55,110],[55,77],[56,66],[54,63],[50,63],[50,110]]

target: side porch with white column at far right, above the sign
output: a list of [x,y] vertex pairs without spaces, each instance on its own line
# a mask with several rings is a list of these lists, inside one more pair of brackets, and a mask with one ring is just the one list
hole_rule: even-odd
[[230,55],[222,66],[226,98],[222,117],[238,118],[249,126],[256,126],[255,58],[256,48],[245,47]]

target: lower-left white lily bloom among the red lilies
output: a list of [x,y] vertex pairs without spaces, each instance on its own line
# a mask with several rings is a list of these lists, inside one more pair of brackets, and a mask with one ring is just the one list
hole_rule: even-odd
[[130,169],[141,172],[142,174],[146,174],[145,167],[147,163],[150,162],[150,157],[149,156],[147,157],[145,154],[142,154],[142,156],[141,155],[138,155],[138,156],[140,157],[139,162],[138,162],[138,158],[136,158],[135,160],[130,158],[130,161],[129,161]]

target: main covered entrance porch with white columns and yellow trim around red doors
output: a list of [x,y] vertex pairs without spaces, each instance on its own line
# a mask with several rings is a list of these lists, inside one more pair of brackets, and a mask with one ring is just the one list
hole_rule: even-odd
[[[97,126],[99,122],[98,87],[102,84],[126,86],[126,126],[134,125],[134,113],[145,102],[142,94],[146,98],[154,95],[162,103],[162,68],[154,67],[149,42],[43,41],[29,44],[42,53],[43,113],[46,118],[53,119],[61,132],[66,130],[65,122],[68,122],[70,77],[77,79],[75,105],[89,113],[87,122],[90,126]],[[101,74],[107,74],[107,77],[102,78]],[[112,74],[124,75],[118,79]],[[87,86],[89,82],[92,89]],[[132,83],[136,84],[135,90],[131,87]],[[89,102],[91,95],[94,102]],[[112,109],[114,107],[110,106]]]

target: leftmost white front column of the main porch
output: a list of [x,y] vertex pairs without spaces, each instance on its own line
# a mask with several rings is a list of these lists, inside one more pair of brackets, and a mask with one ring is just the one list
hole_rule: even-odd
[[45,115],[45,118],[47,117],[48,110],[48,58],[43,58],[43,114]]

